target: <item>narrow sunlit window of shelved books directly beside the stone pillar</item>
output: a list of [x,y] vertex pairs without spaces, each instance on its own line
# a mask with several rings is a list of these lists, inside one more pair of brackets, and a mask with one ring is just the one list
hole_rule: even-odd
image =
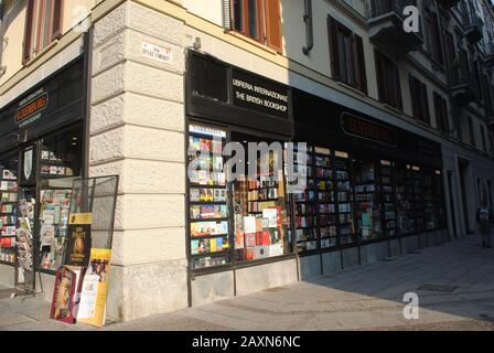
[[226,131],[189,127],[190,255],[193,269],[230,264],[230,212],[223,148]]

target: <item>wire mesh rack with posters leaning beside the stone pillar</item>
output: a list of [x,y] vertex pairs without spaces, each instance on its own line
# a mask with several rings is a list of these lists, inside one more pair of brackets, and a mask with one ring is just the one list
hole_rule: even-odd
[[54,320],[105,324],[117,188],[118,176],[73,182],[50,313]]

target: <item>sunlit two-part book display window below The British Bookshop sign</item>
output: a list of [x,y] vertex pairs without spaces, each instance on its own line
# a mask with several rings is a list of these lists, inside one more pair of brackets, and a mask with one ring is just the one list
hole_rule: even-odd
[[[246,160],[232,163],[234,170],[229,171],[230,165],[223,157],[226,131],[190,126],[190,256],[193,269],[228,266],[233,260],[244,263],[291,252],[282,145],[280,154],[272,151],[257,153],[253,160],[248,156],[247,141],[256,141],[256,137],[233,133],[232,139],[245,147]],[[261,158],[270,165],[267,170],[260,168]],[[247,173],[249,164],[256,160],[258,168]],[[236,168],[240,165],[245,173],[238,170],[237,178],[227,181],[227,174],[237,173]]]

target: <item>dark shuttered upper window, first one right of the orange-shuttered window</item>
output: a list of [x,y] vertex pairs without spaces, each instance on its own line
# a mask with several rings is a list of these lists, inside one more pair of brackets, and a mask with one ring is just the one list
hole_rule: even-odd
[[367,93],[362,38],[331,15],[327,17],[327,28],[333,78]]

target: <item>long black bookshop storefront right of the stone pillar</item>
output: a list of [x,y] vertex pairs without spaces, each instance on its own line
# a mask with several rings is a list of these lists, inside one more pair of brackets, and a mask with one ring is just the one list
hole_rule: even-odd
[[193,51],[187,65],[193,304],[441,242],[439,143]]

